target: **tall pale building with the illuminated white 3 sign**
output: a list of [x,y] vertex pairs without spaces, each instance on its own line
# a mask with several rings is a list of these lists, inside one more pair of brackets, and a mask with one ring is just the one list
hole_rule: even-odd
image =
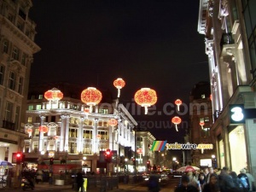
[[[198,32],[205,36],[212,91],[218,166],[256,176],[255,3],[253,0],[201,0]],[[240,111],[230,110],[241,104]],[[251,113],[247,113],[247,111]],[[235,123],[233,114],[245,114]],[[243,119],[243,120],[244,120]]]

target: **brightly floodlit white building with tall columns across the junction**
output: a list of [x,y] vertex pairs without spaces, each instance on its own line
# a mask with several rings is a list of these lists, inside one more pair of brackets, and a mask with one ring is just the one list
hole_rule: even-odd
[[[49,88],[52,86],[63,90],[60,101],[49,102],[44,98],[47,90],[58,91]],[[120,157],[125,155],[125,148],[130,147],[134,154],[135,119],[121,103],[106,102],[111,100],[108,91],[104,91],[102,102],[90,112],[84,110],[88,106],[80,100],[83,89],[73,84],[31,86],[25,125],[28,137],[22,148],[28,166],[49,169],[49,160],[53,158],[55,173],[70,168],[70,172],[76,172],[82,166],[85,172],[102,172],[101,168],[104,172],[120,172]],[[110,119],[116,119],[117,125],[111,125]],[[107,149],[114,152],[108,167],[104,160]]]

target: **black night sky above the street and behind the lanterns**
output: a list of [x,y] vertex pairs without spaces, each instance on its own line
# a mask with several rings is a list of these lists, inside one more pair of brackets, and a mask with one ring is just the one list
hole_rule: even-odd
[[[32,1],[30,18],[37,23],[31,82],[68,82],[117,90],[132,103],[142,87],[156,90],[156,110],[177,98],[189,104],[189,92],[209,81],[204,36],[197,32],[199,0],[44,0]],[[130,108],[131,109],[131,108]],[[130,110],[131,111],[131,110]],[[163,113],[163,112],[162,112]],[[134,115],[154,136],[181,142],[180,131],[163,128],[173,115]],[[188,121],[188,114],[180,116]],[[146,124],[146,125],[144,125]],[[152,126],[162,128],[154,128]]]

